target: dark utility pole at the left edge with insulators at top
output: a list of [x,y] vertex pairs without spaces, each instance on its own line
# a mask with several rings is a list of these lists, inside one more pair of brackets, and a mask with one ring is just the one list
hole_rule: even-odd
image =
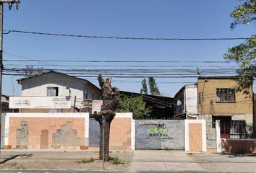
[[[9,9],[12,9],[12,4],[16,4],[16,9],[20,4],[20,0],[0,0],[0,97],[2,91],[2,75],[3,75],[3,21],[4,21],[4,3],[9,4]],[[0,123],[1,123],[1,99],[0,99]],[[0,134],[1,136],[1,134]],[[0,137],[0,151],[1,151],[1,137]],[[1,158],[1,152],[0,152]]]

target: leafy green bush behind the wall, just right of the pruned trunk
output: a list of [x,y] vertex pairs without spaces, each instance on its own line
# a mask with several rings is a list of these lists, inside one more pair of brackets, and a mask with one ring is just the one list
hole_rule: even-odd
[[116,112],[132,112],[133,117],[148,117],[150,115],[150,108],[146,107],[146,103],[142,97],[126,97],[122,96],[119,100]]

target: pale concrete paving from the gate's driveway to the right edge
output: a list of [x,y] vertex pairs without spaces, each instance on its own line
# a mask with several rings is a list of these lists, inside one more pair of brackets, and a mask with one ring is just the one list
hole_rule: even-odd
[[256,172],[256,156],[137,150],[129,172]]

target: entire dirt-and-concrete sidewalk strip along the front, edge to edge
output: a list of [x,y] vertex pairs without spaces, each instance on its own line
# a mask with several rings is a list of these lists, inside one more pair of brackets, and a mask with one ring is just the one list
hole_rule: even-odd
[[[256,172],[256,156],[225,154],[187,154],[174,150],[113,151],[126,164],[106,163],[106,169],[113,172]],[[82,159],[97,159],[95,151],[1,151],[0,164],[4,169],[48,169],[48,170],[94,170],[103,171],[102,161],[79,164]],[[132,161],[132,163],[130,163]]]

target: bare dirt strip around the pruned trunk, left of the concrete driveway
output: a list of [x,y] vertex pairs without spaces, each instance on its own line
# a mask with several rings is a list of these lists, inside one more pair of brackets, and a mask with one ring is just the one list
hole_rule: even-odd
[[[17,156],[19,155],[19,156]],[[24,157],[24,155],[29,155]],[[0,169],[65,169],[65,170],[108,170],[128,172],[132,161],[132,151],[111,152],[112,158],[117,157],[124,164],[112,164],[98,159],[97,151],[4,151],[1,152],[1,161],[9,159],[0,165]],[[14,157],[16,156],[16,157]],[[95,159],[83,163],[82,160]],[[86,161],[85,161],[86,162]]]

